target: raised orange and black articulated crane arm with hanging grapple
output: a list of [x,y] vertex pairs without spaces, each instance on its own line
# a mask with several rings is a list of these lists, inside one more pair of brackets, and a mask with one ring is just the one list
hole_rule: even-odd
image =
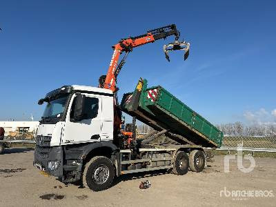
[[[146,34],[142,34],[137,37],[121,39],[119,43],[117,43],[115,46],[112,46],[114,52],[110,61],[108,73],[107,75],[102,75],[99,78],[99,87],[108,88],[114,93],[117,92],[117,76],[119,75],[121,68],[124,66],[124,63],[126,62],[126,57],[128,56],[128,53],[131,52],[133,48],[142,46],[146,43],[153,43],[158,39],[166,39],[166,37],[171,35],[175,35],[175,42],[170,43],[168,46],[164,46],[166,59],[170,61],[170,59],[168,58],[168,52],[171,50],[185,50],[184,59],[187,59],[190,43],[186,43],[185,41],[178,41],[180,32],[177,30],[175,24],[157,28],[155,30],[149,30]],[[181,46],[184,46],[184,48],[182,48]],[[118,64],[119,56],[123,52],[126,53],[123,59],[121,59],[120,63]]]

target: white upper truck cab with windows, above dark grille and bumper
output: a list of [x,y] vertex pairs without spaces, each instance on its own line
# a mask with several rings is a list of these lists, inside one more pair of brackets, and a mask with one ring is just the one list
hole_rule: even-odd
[[[83,117],[74,117],[75,102],[85,96]],[[63,86],[46,95],[37,135],[51,137],[50,146],[113,139],[112,91],[90,86]]]

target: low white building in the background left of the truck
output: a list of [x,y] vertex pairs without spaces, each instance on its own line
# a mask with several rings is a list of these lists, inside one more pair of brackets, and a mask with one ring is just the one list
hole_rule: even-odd
[[32,139],[39,121],[0,121],[0,127],[5,130],[5,137],[21,137]]

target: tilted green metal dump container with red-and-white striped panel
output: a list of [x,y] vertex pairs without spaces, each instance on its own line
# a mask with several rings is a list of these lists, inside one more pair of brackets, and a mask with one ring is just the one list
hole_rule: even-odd
[[203,147],[221,146],[223,133],[161,86],[147,88],[140,80],[134,92],[124,94],[121,109],[155,130],[167,129]]

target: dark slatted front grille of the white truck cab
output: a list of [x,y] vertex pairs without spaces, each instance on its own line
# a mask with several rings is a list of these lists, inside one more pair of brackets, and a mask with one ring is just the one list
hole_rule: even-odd
[[35,145],[35,150],[37,155],[39,157],[46,159],[49,157],[50,153],[50,142],[51,142],[52,137],[50,136],[41,136],[38,135],[35,139],[36,145]]

